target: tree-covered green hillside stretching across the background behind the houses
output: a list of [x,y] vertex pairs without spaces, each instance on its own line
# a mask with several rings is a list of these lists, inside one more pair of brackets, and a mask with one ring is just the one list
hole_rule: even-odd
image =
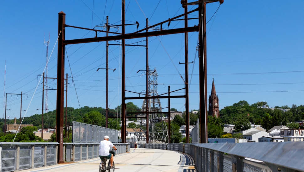
[[[220,118],[213,118],[211,116],[208,116],[208,137],[209,138],[215,138],[215,137],[224,137],[224,138],[241,138],[240,135],[223,135],[223,125],[224,124],[233,124],[235,125],[235,131],[242,131],[245,129],[250,128],[251,124],[257,124],[261,125],[266,130],[271,129],[273,126],[276,125],[286,125],[289,128],[299,128],[299,124],[295,123],[295,121],[304,120],[304,106],[296,106],[293,104],[290,107],[287,105],[285,106],[275,106],[274,110],[268,108],[261,108],[262,106],[266,106],[267,102],[257,102],[254,104],[249,105],[247,101],[241,100],[238,103],[234,103],[231,106],[226,106],[223,109],[220,110]],[[109,117],[117,117],[120,116],[120,109],[121,107],[118,106],[115,109],[108,109],[108,116]],[[288,111],[284,112],[280,109],[289,109]],[[177,109],[172,108],[172,111],[175,111]],[[129,120],[136,120],[135,114],[137,112],[140,112],[141,109],[134,105],[132,102],[127,103],[127,112],[130,114],[127,114]],[[196,111],[196,110],[194,110]],[[197,123],[197,119],[200,116],[200,111],[197,110],[197,114],[189,113],[189,123],[190,125],[195,125]],[[66,113],[67,112],[67,113]],[[68,107],[64,109],[64,114],[67,114],[67,124],[72,124],[72,121],[77,121],[81,123],[86,124],[93,124],[105,127],[106,126],[106,109],[101,107],[88,107],[84,106],[79,109],[74,109],[72,107]],[[29,117],[25,117],[23,120],[23,124],[33,124],[33,129],[41,129],[41,114],[34,114]],[[181,139],[181,133],[179,133],[179,127],[181,125],[185,125],[185,118],[186,114],[183,112],[182,117],[179,115],[176,115],[175,118],[172,120],[171,124],[171,130],[173,132],[171,135],[171,143],[180,143],[182,141]],[[64,118],[64,123],[66,122],[66,119]],[[7,121],[7,124],[13,124],[13,120]],[[17,124],[19,122],[19,119],[17,119]],[[0,124],[4,125],[4,119],[0,119]],[[43,128],[55,128],[56,125],[56,110],[49,111],[48,113],[44,114],[44,120],[43,120]],[[119,118],[108,118],[108,128],[111,129],[120,129],[120,119]],[[166,123],[168,126],[168,123]],[[138,128],[139,126],[136,126],[135,123],[129,124],[128,128]],[[29,133],[29,130],[33,129],[27,129],[27,131],[24,131],[26,133]],[[142,128],[144,129],[144,128]],[[162,131],[161,131],[162,132]],[[1,133],[3,135],[3,133]],[[0,135],[1,135],[0,134]],[[14,135],[14,134],[13,134]],[[24,135],[23,135],[24,136]],[[41,141],[39,138],[24,138],[23,136],[18,136],[18,141],[25,141],[26,139],[33,140],[33,141]],[[10,134],[5,137],[4,140],[11,140]],[[2,139],[1,139],[2,138]],[[3,141],[3,137],[0,139]],[[16,137],[17,138],[17,137]],[[53,138],[54,139],[54,138]]]

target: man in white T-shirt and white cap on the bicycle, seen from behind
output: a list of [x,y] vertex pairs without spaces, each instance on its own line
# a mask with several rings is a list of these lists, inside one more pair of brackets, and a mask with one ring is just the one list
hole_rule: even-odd
[[99,144],[99,158],[102,160],[103,158],[110,159],[111,168],[113,168],[113,154],[110,153],[110,147],[117,150],[117,148],[113,145],[112,142],[109,141],[109,136],[104,136],[104,140],[102,140]]

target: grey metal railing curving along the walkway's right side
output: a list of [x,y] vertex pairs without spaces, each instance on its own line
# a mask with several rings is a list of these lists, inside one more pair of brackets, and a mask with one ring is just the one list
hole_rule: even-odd
[[144,144],[190,155],[199,172],[304,172],[304,142]]

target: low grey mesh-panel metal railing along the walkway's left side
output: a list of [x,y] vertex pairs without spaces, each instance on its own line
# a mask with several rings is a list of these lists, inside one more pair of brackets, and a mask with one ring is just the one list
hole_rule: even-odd
[[[113,143],[116,154],[130,151],[130,144]],[[0,142],[1,171],[19,171],[57,164],[57,147],[59,143],[13,143]],[[65,143],[63,159],[66,162],[98,158],[99,142]]]

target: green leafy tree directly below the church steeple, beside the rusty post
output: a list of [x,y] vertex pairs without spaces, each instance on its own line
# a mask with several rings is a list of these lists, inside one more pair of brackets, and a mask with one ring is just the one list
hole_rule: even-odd
[[208,116],[208,138],[221,138],[223,135],[224,125],[220,118]]

